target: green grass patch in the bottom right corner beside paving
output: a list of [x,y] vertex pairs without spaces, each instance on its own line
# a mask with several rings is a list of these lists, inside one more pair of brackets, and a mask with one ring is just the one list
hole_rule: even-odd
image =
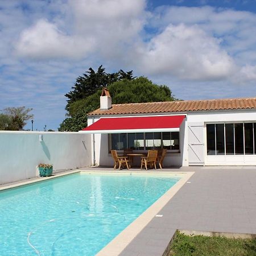
[[256,256],[256,239],[186,236],[177,232],[169,256]]

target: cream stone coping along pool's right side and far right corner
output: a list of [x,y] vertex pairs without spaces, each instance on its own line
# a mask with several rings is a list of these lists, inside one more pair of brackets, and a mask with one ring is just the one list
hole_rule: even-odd
[[[126,171],[127,172],[127,171]],[[135,171],[139,172],[140,171]],[[142,172],[146,173],[146,172]],[[181,187],[191,178],[195,172],[150,172],[151,174],[182,174],[177,183],[175,183],[166,193],[164,193],[158,200],[155,201],[149,208],[147,208],[138,218],[136,218],[129,226],[127,226],[121,233],[119,233],[112,241],[103,247],[96,256],[119,255],[126,248],[127,245],[145,228],[148,223],[156,217],[156,214],[174,197]]]

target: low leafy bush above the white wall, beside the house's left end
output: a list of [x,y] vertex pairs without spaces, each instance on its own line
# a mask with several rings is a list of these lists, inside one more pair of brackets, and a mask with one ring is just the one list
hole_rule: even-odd
[[73,117],[64,119],[59,127],[59,131],[80,131],[87,126],[87,114],[95,108],[87,106],[80,109]]

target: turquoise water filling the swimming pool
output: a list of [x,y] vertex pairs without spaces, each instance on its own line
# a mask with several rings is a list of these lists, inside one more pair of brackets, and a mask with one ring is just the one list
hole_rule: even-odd
[[72,174],[0,192],[0,255],[95,255],[180,176]]

